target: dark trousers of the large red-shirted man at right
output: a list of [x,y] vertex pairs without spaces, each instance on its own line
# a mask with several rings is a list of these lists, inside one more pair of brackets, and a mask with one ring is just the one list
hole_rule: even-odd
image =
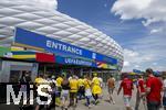
[[160,102],[147,101],[147,110],[159,110]]

